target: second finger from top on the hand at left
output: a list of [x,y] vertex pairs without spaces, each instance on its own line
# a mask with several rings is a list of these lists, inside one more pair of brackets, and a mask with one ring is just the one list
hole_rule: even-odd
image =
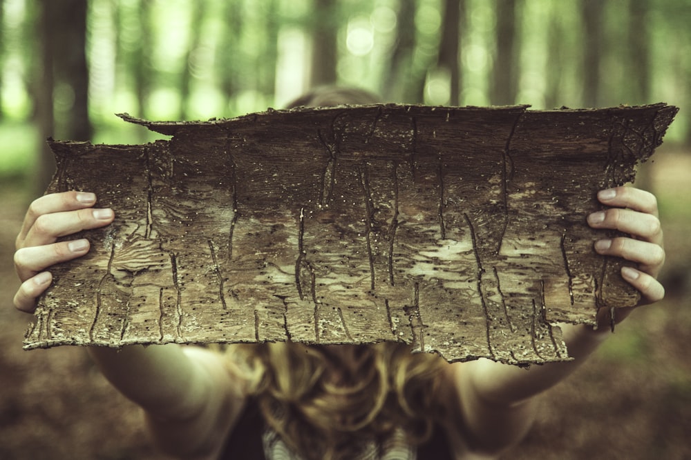
[[20,247],[43,246],[55,243],[59,237],[108,225],[115,218],[113,210],[79,209],[67,212],[53,212],[37,217],[28,230]]

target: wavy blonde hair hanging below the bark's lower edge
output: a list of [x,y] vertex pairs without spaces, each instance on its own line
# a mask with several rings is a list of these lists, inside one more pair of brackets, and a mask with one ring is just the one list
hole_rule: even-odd
[[423,443],[439,415],[433,395],[446,361],[402,343],[261,343],[228,351],[265,421],[305,459],[352,458],[363,441],[395,428],[411,444]]

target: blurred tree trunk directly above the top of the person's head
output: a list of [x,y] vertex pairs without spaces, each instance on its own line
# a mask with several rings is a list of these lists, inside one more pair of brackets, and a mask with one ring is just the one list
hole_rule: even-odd
[[312,71],[310,86],[336,83],[338,63],[337,0],[314,0],[312,24]]

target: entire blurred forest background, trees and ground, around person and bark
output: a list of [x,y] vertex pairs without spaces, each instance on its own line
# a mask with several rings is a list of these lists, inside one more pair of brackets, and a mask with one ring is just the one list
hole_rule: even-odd
[[507,458],[691,458],[689,24],[690,0],[0,0],[0,458],[159,458],[83,350],[21,350],[11,257],[53,172],[45,139],[142,143],[157,137],[115,113],[236,117],[330,83],[399,103],[681,108],[637,184],[659,197],[668,297],[549,392]]

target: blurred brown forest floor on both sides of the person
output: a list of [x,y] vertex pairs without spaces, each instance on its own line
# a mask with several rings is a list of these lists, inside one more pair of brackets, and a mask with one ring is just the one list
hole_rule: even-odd
[[[665,301],[639,309],[595,357],[542,397],[538,421],[506,459],[691,458],[691,154],[643,168],[661,203]],[[25,352],[30,317],[12,307],[14,239],[30,201],[0,184],[0,459],[162,460],[135,406],[79,348]]]

